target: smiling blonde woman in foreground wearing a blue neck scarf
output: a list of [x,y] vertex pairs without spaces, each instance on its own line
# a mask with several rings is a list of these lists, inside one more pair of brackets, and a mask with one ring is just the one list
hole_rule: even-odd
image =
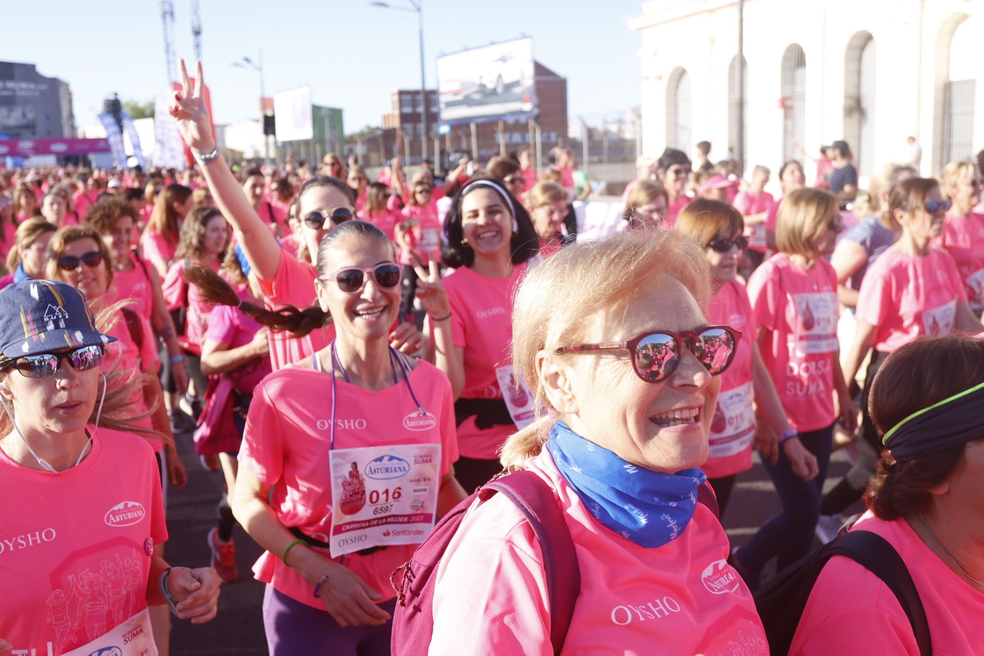
[[[546,483],[575,544],[563,653],[768,653],[727,537],[698,503],[718,374],[741,339],[707,325],[709,300],[700,247],[654,230],[568,246],[519,289],[513,361],[546,412],[502,461]],[[430,653],[553,653],[542,558],[503,495],[472,507],[438,570]]]

